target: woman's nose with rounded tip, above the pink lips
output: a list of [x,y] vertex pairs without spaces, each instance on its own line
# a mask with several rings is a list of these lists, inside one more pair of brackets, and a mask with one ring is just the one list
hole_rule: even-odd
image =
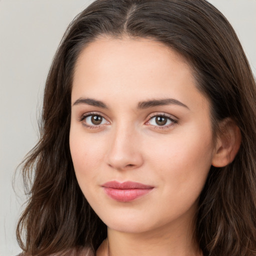
[[140,135],[129,127],[116,127],[110,136],[107,163],[117,170],[135,169],[143,164]]

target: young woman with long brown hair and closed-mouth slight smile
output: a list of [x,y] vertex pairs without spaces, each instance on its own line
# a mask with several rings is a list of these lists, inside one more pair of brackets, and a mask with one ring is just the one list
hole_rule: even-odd
[[24,255],[254,255],[255,98],[207,1],[91,3],[53,59],[24,161]]

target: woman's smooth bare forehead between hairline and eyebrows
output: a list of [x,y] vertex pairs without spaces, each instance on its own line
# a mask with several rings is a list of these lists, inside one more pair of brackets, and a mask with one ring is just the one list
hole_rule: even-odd
[[166,95],[182,101],[199,93],[195,84],[190,65],[165,44],[145,38],[102,37],[86,45],[77,58],[72,102],[81,96],[102,101],[112,96],[124,103],[130,98],[140,101]]

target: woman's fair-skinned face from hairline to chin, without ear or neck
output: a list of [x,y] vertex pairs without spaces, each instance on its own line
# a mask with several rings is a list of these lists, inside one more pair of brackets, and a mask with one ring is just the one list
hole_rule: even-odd
[[79,55],[71,104],[75,174],[103,222],[187,228],[214,148],[209,102],[184,59],[149,39],[98,39]]

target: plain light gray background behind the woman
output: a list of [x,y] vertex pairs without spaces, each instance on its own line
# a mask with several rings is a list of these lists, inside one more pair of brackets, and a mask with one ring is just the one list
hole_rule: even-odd
[[[24,202],[17,176],[37,140],[47,71],[71,19],[92,0],[0,0],[0,256],[16,255],[15,225]],[[256,0],[210,0],[231,22],[256,74]]]

